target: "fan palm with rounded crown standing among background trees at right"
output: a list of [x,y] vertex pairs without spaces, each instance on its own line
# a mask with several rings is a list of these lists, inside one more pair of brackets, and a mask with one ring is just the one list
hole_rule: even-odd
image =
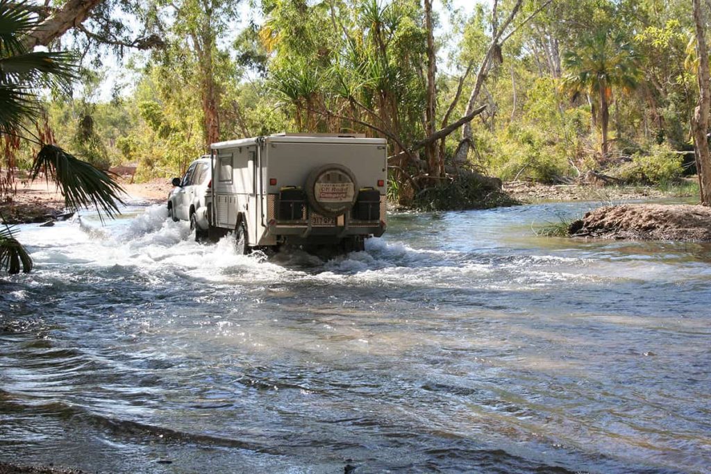
[[640,75],[637,55],[622,33],[602,30],[584,38],[577,50],[565,53],[563,64],[569,70],[564,77],[565,85],[576,94],[597,95],[602,158],[606,158],[612,88],[632,90],[637,86]]

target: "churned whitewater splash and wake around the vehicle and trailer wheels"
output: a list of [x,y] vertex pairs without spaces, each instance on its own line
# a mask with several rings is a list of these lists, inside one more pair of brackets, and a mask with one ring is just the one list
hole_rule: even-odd
[[[144,274],[180,272],[205,281],[237,283],[312,279],[353,281],[397,286],[424,281],[433,287],[469,287],[478,281],[486,287],[510,284],[545,284],[574,276],[580,259],[562,257],[492,258],[486,252],[462,252],[415,248],[387,238],[368,239],[364,252],[335,257],[324,262],[298,249],[288,249],[273,257],[254,252],[237,255],[228,235],[216,244],[194,242],[187,222],[173,222],[164,205],[127,208],[124,216],[104,225],[95,215],[58,222],[46,230],[26,226],[23,241],[28,244],[38,271],[57,264],[101,267],[137,267]],[[570,267],[559,271],[556,266]],[[521,274],[521,269],[530,271]],[[510,281],[489,281],[493,271],[515,273]],[[489,281],[487,283],[487,281]]]

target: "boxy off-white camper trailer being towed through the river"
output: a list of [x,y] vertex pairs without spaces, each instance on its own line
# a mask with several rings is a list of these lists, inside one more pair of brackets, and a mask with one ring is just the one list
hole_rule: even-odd
[[[266,136],[223,141],[211,148],[211,225],[230,231],[235,230],[241,220],[247,227],[247,244],[251,247],[276,245],[286,239],[308,243],[311,239],[339,242],[346,237],[357,237],[362,241],[370,235],[379,236],[385,230],[387,145],[384,139]],[[382,205],[378,208],[382,211],[378,212],[375,222],[358,221],[351,210],[319,220],[318,213],[306,199],[302,205],[304,219],[301,215],[299,218],[292,215],[287,222],[283,215],[279,216],[282,209],[279,204],[286,202],[284,193],[305,190],[306,181],[314,170],[328,165],[345,168],[342,174],[347,176],[346,185],[351,187],[352,192],[348,194],[353,195],[351,206],[358,205],[355,200],[364,188],[371,200],[373,195],[375,200],[380,196]],[[312,183],[311,188],[318,190],[319,186],[323,187],[324,183],[315,187]],[[355,225],[351,226],[351,221]]]

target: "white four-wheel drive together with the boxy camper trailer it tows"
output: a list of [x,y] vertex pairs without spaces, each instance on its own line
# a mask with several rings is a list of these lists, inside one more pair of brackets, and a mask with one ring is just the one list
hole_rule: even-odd
[[168,200],[196,239],[232,232],[242,253],[281,244],[348,252],[385,232],[384,139],[279,134],[210,149],[173,179]]

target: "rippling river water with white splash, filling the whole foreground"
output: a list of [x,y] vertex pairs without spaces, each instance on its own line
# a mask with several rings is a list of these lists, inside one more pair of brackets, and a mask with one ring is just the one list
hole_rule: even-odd
[[708,473],[711,247],[572,242],[592,203],[390,217],[237,256],[161,206],[20,226],[0,460],[102,473]]

